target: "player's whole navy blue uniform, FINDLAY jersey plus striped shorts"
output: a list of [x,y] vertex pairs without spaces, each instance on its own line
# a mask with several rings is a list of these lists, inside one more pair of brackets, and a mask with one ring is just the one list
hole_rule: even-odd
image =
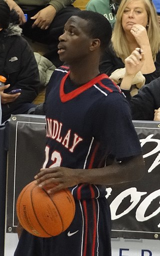
[[[66,68],[55,69],[46,93],[43,167],[99,168],[141,154],[127,101],[104,74],[76,87]],[[109,160],[109,161],[108,161]],[[105,186],[70,188],[75,216],[61,234],[40,238],[22,232],[14,256],[111,256],[110,209]]]

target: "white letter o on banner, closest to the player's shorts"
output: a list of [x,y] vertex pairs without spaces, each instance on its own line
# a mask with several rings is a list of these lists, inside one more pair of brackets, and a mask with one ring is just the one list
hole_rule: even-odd
[[[127,214],[129,211],[131,211],[136,206],[136,204],[139,202],[141,196],[145,195],[146,193],[147,192],[138,192],[136,188],[128,188],[128,189],[122,191],[110,203],[111,219],[112,220],[118,219],[118,218],[124,216],[125,214]],[[130,199],[131,205],[127,209],[125,209],[122,213],[116,215],[116,211],[117,211],[119,205],[121,204],[122,200],[129,195],[131,197],[131,199]]]

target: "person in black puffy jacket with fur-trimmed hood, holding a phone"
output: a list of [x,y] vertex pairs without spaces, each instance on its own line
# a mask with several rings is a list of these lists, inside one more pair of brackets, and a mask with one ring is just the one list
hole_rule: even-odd
[[[6,77],[4,90],[0,90],[2,123],[11,114],[26,113],[38,94],[39,72],[33,52],[18,24],[18,15],[0,0],[0,75]],[[8,94],[13,89],[20,93]]]

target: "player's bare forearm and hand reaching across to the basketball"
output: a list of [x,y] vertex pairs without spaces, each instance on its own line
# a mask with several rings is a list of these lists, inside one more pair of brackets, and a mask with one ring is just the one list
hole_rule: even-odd
[[64,167],[40,169],[40,172],[34,178],[40,187],[48,186],[48,193],[51,193],[80,183],[95,185],[120,184],[139,180],[143,175],[144,161],[142,156],[139,155],[98,169],[75,170]]

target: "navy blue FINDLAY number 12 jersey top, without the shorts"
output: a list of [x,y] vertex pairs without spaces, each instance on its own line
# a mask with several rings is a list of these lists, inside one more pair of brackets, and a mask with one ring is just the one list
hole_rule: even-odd
[[[105,74],[76,87],[67,68],[55,69],[45,110],[43,168],[99,168],[110,158],[121,160],[141,154],[128,103]],[[80,184],[72,192],[76,199],[97,198],[105,195],[105,187]]]

